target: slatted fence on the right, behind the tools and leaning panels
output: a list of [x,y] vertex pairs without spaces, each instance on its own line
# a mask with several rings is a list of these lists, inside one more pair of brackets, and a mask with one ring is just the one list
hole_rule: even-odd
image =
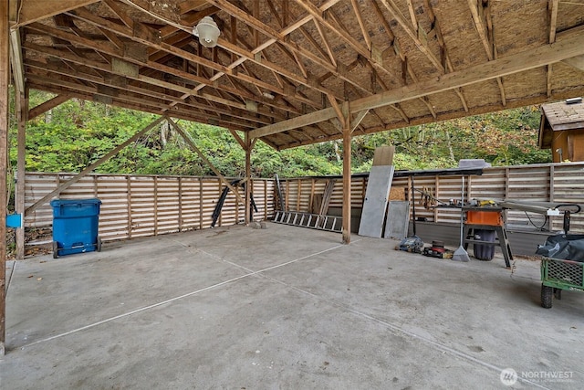
[[[314,195],[323,194],[328,180],[336,179],[330,207],[342,206],[342,180],[331,178],[295,178],[283,179],[283,196],[287,210],[308,212]],[[552,163],[509,167],[485,168],[482,175],[465,176],[465,199],[490,198],[506,200],[524,200],[537,202],[566,202],[584,206],[584,163]],[[462,177],[435,175],[416,176],[413,178],[416,189],[425,188],[444,202],[461,198]],[[396,177],[392,188],[402,187],[408,193],[412,188],[412,177]],[[351,181],[351,206],[361,207],[367,176],[354,176]],[[430,208],[424,209],[420,203],[421,194],[415,195],[416,216],[428,221],[458,224],[460,209]],[[408,195],[409,196],[409,195]],[[562,216],[550,217],[552,230],[562,228]],[[506,222],[512,227],[542,226],[545,216],[522,211],[507,210]],[[571,217],[571,232],[584,233],[584,211]]]

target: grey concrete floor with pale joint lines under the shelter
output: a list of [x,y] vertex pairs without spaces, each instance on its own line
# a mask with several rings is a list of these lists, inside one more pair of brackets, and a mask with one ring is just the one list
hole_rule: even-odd
[[268,224],[8,264],[2,389],[581,388],[584,294]]

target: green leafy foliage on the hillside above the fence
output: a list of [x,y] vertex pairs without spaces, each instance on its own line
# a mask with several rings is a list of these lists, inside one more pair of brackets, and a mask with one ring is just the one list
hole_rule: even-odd
[[[52,96],[31,91],[31,106]],[[548,151],[537,149],[537,107],[502,111],[391,132],[355,137],[352,171],[367,172],[375,148],[394,144],[397,169],[454,167],[463,158],[484,158],[494,165],[547,163]],[[155,119],[154,115],[100,103],[68,100],[26,126],[26,169],[78,172],[125,142]],[[10,118],[10,159],[16,166],[16,120]],[[179,121],[207,158],[226,176],[242,176],[245,153],[224,129]],[[323,142],[276,152],[264,142],[255,144],[253,174],[270,177],[340,174],[342,142]],[[115,174],[192,174],[213,172],[182,137],[161,125],[130,144],[97,172]]]

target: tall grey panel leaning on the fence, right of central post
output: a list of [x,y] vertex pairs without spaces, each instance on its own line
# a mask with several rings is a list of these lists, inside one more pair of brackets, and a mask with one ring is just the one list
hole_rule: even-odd
[[360,236],[381,238],[392,178],[393,165],[371,166],[361,212]]

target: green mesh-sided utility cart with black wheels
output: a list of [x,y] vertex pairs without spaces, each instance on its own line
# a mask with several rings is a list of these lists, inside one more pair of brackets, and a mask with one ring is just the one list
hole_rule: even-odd
[[559,258],[541,259],[541,306],[550,309],[562,290],[584,292],[584,262]]

